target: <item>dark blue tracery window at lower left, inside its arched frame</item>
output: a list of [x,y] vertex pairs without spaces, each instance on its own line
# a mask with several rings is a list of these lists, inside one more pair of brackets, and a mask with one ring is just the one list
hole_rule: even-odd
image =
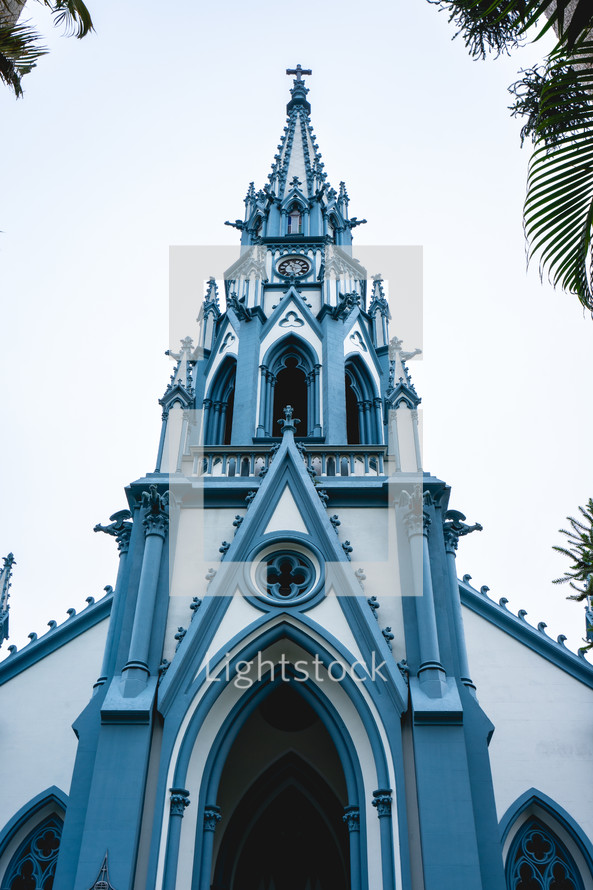
[[2,890],[52,890],[62,827],[54,815],[29,834],[12,857]]

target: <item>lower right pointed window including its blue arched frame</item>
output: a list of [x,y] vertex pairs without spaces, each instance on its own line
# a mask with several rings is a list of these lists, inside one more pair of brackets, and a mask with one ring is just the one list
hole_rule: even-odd
[[[513,803],[501,823],[508,890],[583,890],[593,881],[593,847],[572,817],[532,788]],[[521,881],[524,883],[522,884]]]

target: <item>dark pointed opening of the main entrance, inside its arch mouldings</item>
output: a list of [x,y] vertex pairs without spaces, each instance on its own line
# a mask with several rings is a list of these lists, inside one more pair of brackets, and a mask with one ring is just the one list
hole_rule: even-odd
[[349,890],[344,773],[295,684],[280,683],[246,721],[218,801],[230,818],[216,851],[217,890]]

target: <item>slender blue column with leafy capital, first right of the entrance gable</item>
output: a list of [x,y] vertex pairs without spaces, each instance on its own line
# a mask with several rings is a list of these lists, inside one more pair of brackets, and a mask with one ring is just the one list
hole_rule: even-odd
[[[412,575],[416,595],[416,615],[418,620],[418,642],[420,646],[420,667],[418,677],[424,691],[431,698],[442,695],[445,670],[441,664],[439,637],[434,610],[434,591],[430,571],[428,550],[428,530],[430,516],[423,509],[424,496],[420,486],[410,495],[403,492],[400,503],[407,507],[404,525],[408,532],[412,551]],[[421,539],[420,541],[418,539]],[[422,565],[419,565],[418,545],[422,547]],[[416,551],[416,553],[414,552]]]

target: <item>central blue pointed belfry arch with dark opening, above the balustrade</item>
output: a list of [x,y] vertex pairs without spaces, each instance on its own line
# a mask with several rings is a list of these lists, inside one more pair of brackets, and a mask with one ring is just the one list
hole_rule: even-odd
[[260,365],[258,435],[278,436],[277,421],[289,404],[301,421],[297,435],[321,434],[320,369],[315,351],[301,337],[290,334],[274,343]]

